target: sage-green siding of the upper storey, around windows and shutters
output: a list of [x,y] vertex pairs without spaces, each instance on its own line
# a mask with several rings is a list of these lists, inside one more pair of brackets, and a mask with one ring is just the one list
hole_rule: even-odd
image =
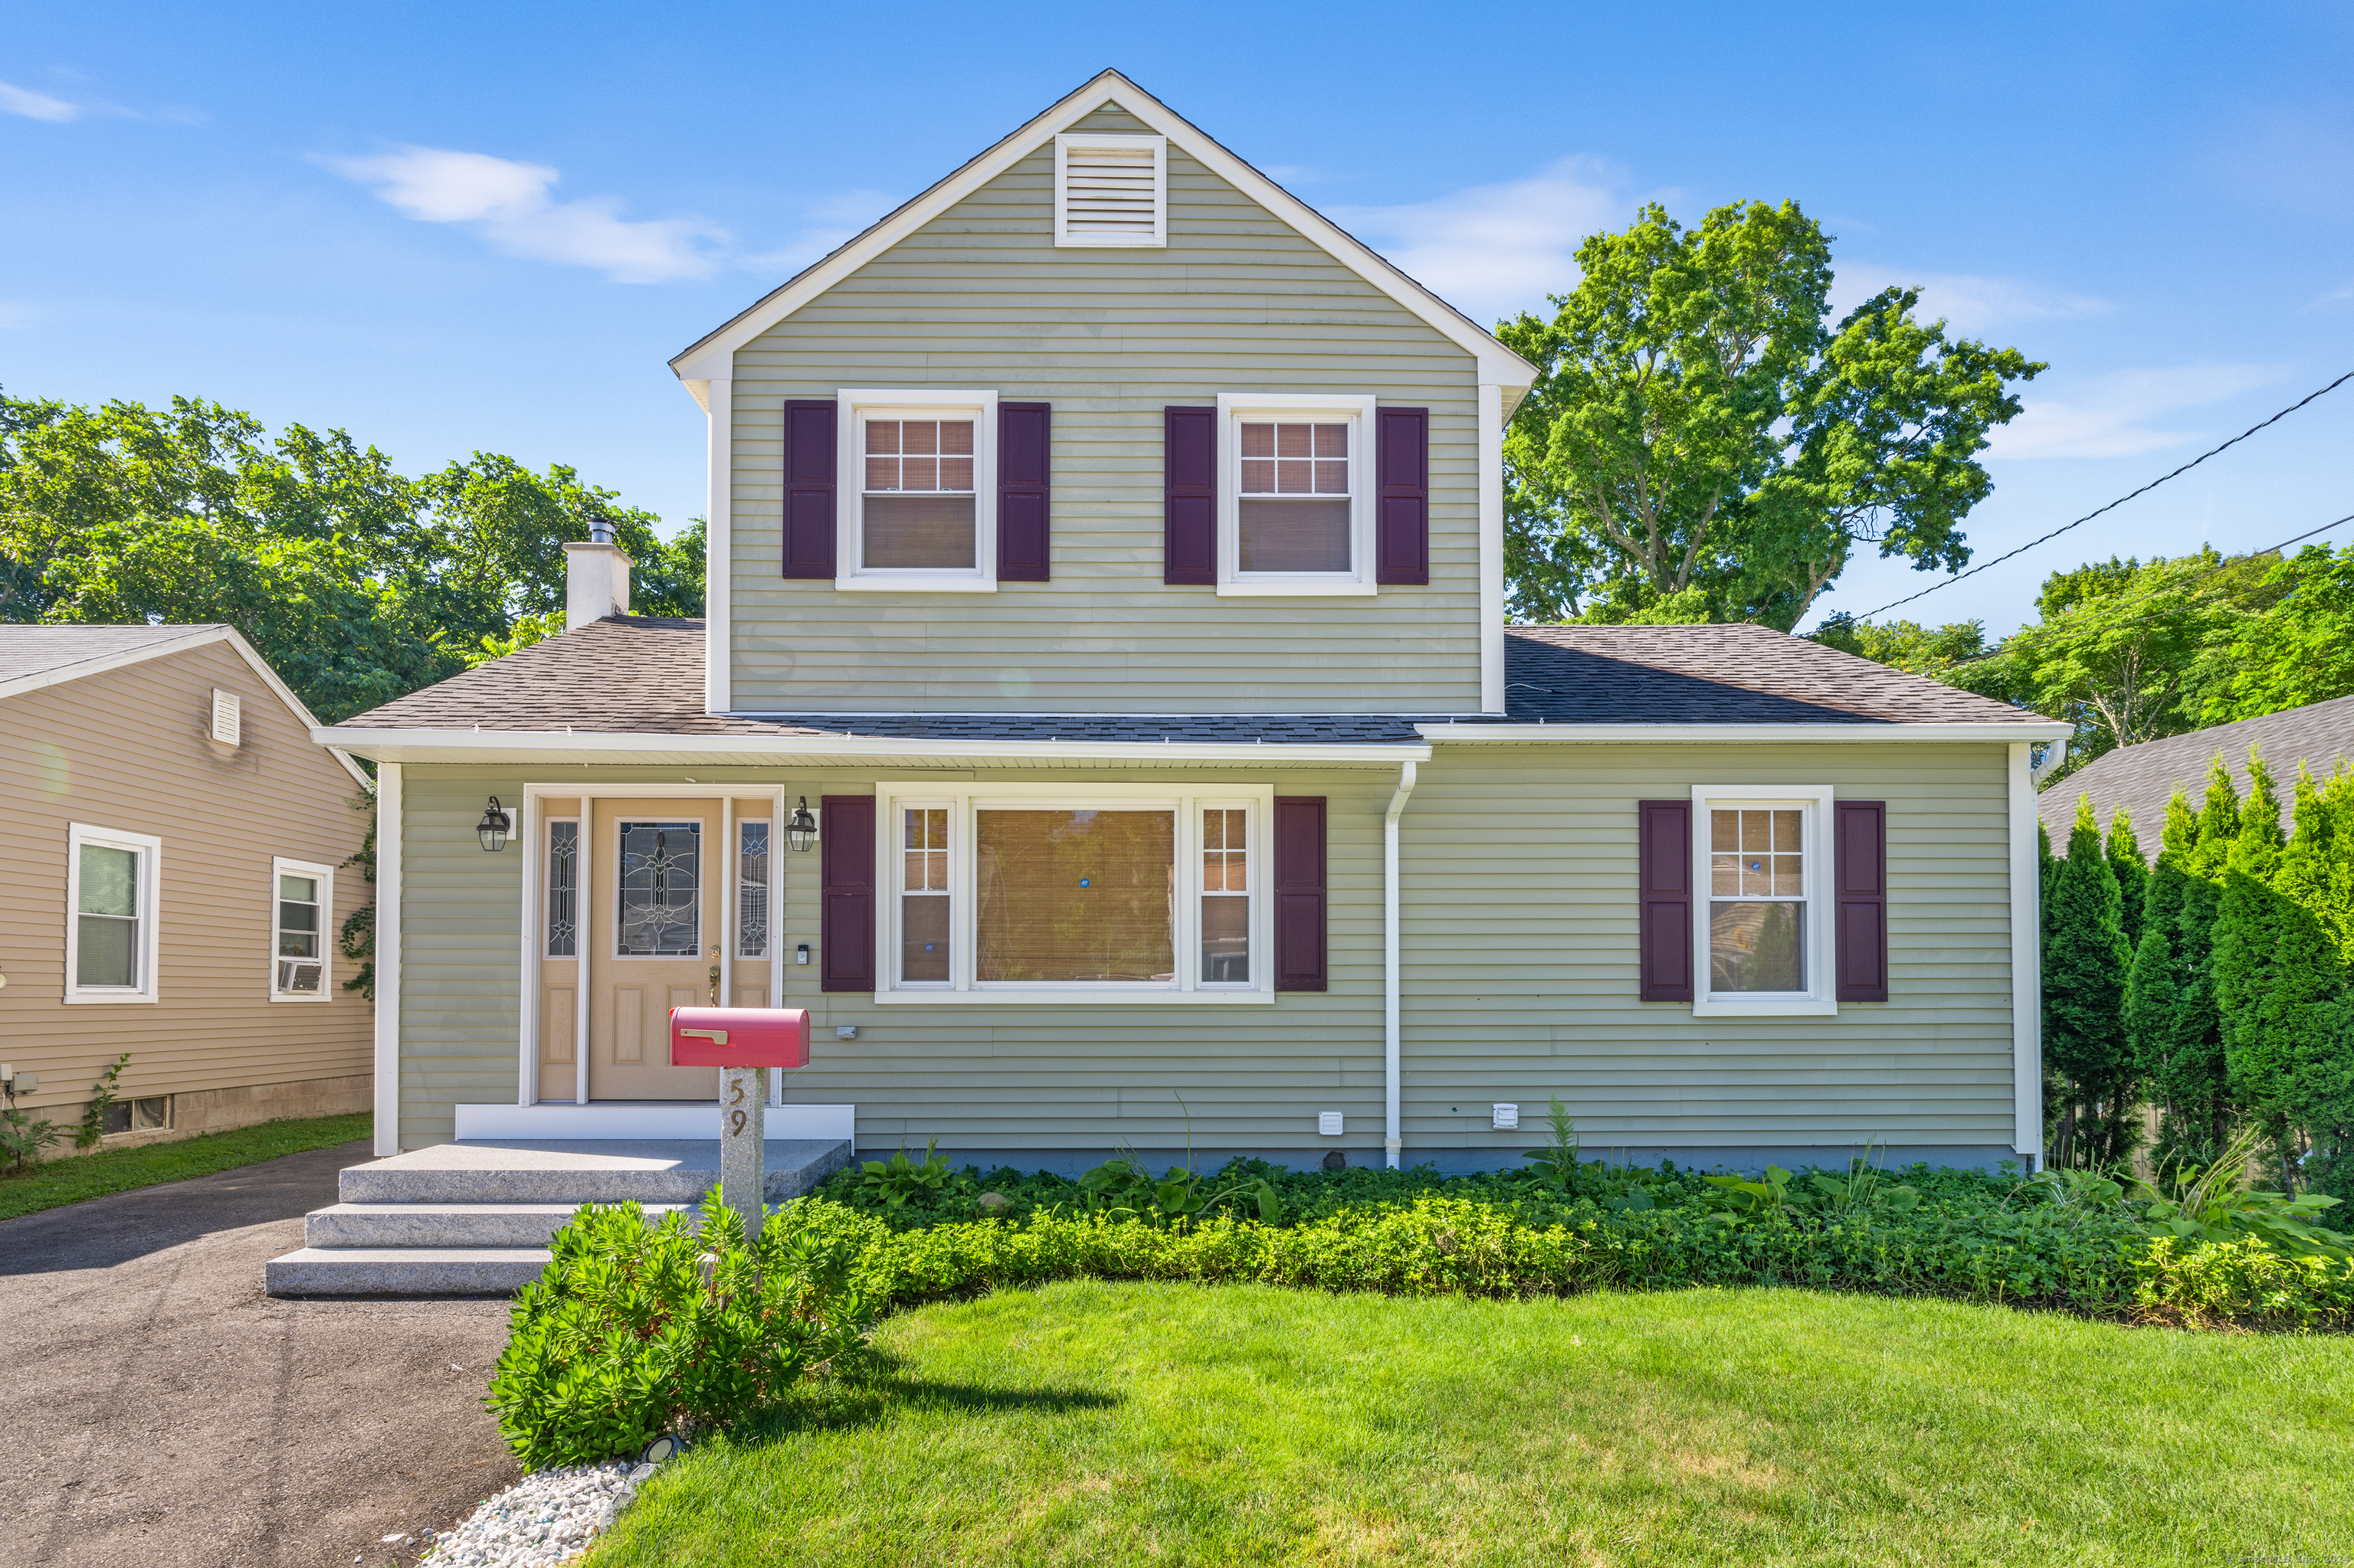
[[[1142,129],[1118,113],[1083,127]],[[734,706],[1478,711],[1471,356],[1175,148],[1165,250],[1057,250],[1052,179],[1048,141],[737,351]],[[843,386],[1052,403],[1055,579],[784,582],[782,405]],[[1429,586],[1219,598],[1161,582],[1161,410],[1241,391],[1431,410]],[[855,476],[838,478],[847,506]]]

